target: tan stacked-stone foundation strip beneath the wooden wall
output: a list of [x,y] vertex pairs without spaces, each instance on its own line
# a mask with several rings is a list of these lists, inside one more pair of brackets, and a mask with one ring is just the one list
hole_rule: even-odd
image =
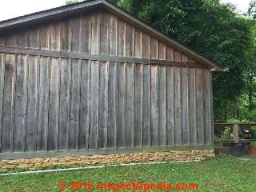
[[214,150],[170,151],[139,154],[106,154],[66,158],[31,158],[0,161],[0,169],[22,168],[28,170],[42,169],[50,166],[87,166],[97,164],[161,161],[193,161],[214,157]]

